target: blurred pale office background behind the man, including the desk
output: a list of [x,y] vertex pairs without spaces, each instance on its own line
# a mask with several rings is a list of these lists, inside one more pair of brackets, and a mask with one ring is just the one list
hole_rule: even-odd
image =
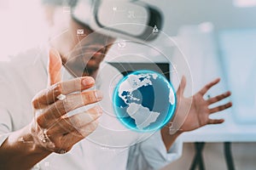
[[[207,95],[215,96],[228,89],[233,93],[233,108],[215,115],[225,118],[224,124],[183,134],[183,156],[164,169],[189,169],[193,161],[209,170],[228,169],[227,164],[232,161],[236,169],[255,169],[256,0],[147,2],[165,14],[163,31],[177,41],[188,59],[194,92],[221,77],[222,82]],[[1,60],[47,41],[43,13],[40,0],[0,0]],[[172,59],[178,59],[176,49],[170,48]],[[201,154],[195,149],[195,142],[203,149]],[[196,153],[201,156],[196,157]],[[200,163],[195,169],[200,169]]]

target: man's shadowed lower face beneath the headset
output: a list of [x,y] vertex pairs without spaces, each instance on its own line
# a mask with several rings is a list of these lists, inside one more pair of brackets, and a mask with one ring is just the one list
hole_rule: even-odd
[[102,35],[89,28],[84,28],[84,36],[77,37],[78,41],[73,50],[67,54],[65,66],[75,77],[96,76],[96,71],[106,56],[114,38]]

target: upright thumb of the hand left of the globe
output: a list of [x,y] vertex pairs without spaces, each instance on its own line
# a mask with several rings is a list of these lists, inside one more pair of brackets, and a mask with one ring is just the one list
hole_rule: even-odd
[[61,82],[61,55],[54,49],[49,49],[49,63],[48,63],[48,84],[49,86],[56,82]]

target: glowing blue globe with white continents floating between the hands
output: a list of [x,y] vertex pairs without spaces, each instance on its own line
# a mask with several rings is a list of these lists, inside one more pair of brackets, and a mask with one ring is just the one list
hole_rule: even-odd
[[113,92],[113,110],[125,127],[138,132],[160,129],[172,119],[176,94],[171,82],[154,71],[134,71]]

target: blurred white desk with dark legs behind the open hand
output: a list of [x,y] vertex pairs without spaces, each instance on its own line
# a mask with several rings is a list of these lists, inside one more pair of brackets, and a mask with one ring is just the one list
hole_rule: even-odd
[[[225,111],[226,122],[222,125],[209,125],[189,133],[183,133],[181,139],[185,143],[195,143],[195,157],[190,170],[196,166],[205,169],[203,161],[203,148],[206,143],[224,143],[224,155],[229,170],[235,169],[231,153],[232,142],[256,142],[256,124],[238,124],[231,117],[230,111]],[[222,116],[222,117],[223,117]]]

